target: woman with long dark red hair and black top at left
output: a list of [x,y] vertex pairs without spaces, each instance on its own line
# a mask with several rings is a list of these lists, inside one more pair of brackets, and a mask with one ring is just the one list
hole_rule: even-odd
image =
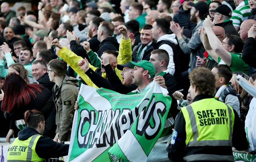
[[15,121],[22,120],[24,112],[32,109],[44,114],[45,130],[43,135],[54,137],[56,110],[49,89],[40,84],[28,84],[20,75],[10,73],[4,81],[4,92],[2,111],[4,117],[11,120],[6,141],[9,141],[10,137],[14,135]]

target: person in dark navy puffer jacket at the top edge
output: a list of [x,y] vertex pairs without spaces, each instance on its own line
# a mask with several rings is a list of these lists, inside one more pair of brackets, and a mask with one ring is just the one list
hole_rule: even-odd
[[196,27],[196,23],[190,21],[190,9],[192,6],[189,5],[189,2],[193,0],[180,0],[180,10],[173,16],[173,21],[178,23],[180,27],[184,27],[184,35],[187,33],[187,37],[191,37],[192,30]]

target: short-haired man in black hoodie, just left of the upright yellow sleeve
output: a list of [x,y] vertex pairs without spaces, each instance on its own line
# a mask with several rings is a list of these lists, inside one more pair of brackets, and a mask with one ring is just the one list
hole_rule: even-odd
[[117,51],[119,49],[119,43],[117,42],[116,38],[113,37],[114,29],[115,26],[111,22],[100,22],[97,32],[98,41],[100,41],[99,50],[97,51],[99,58],[106,50]]

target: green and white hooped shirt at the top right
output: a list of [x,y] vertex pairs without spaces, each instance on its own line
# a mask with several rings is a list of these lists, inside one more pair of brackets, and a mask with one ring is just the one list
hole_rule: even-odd
[[248,0],[244,0],[236,7],[236,10],[232,12],[231,19],[233,21],[234,27],[240,27],[241,23],[244,20],[247,20],[250,15],[251,9],[248,4]]

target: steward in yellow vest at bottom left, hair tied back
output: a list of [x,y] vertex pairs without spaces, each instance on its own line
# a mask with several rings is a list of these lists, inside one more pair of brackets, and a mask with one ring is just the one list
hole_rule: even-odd
[[44,161],[68,155],[69,145],[54,142],[44,132],[44,115],[36,109],[25,112],[27,127],[18,133],[8,149],[7,162]]

